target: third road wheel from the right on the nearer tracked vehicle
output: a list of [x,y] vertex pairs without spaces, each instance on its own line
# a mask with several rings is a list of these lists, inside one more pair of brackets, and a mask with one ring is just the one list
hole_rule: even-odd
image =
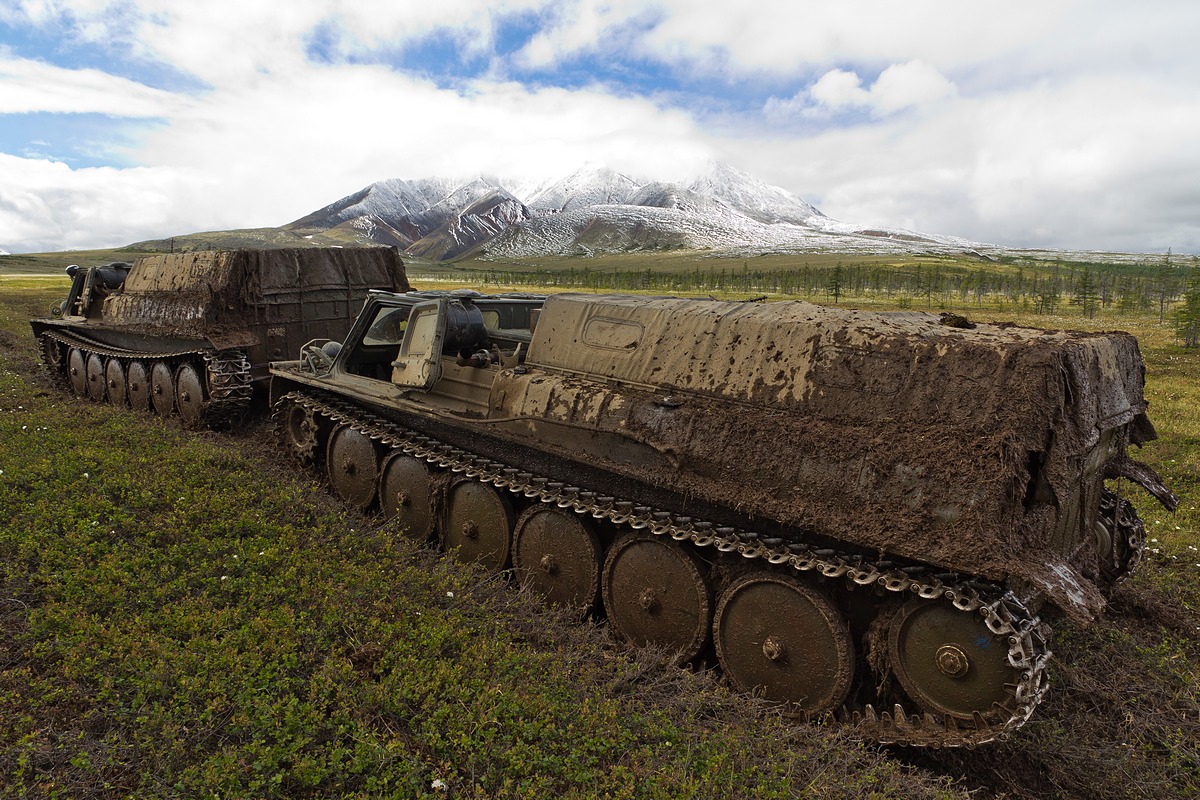
[[659,644],[677,663],[700,655],[713,619],[713,593],[690,551],[653,534],[625,534],[608,551],[601,581],[613,631],[635,644]]

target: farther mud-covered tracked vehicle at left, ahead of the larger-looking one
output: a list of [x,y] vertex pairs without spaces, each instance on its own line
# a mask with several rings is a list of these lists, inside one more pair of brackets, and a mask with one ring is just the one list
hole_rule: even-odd
[[390,248],[174,253],[67,273],[67,297],[30,323],[52,377],[190,427],[240,415],[271,359],[344,336],[368,289],[409,289]]

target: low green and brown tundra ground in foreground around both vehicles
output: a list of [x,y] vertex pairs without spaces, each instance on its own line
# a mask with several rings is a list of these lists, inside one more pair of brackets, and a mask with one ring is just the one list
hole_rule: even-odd
[[926,752],[619,651],[347,512],[264,427],[74,402],[28,327],[61,291],[0,284],[0,798],[1200,796],[1200,363],[1153,318],[1061,323],[1139,335],[1180,511],[1135,497],[1157,552],[1104,621],[1055,621],[1033,721]]

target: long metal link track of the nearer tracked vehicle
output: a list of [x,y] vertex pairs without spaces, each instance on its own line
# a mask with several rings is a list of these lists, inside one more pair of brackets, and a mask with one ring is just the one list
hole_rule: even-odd
[[1045,694],[1046,664],[1051,655],[1048,648],[1049,631],[1016,595],[1001,587],[956,575],[937,575],[929,567],[896,567],[887,563],[874,563],[853,553],[812,549],[800,542],[785,542],[749,530],[716,527],[710,522],[582,487],[565,486],[550,477],[480,458],[408,431],[391,420],[325,392],[293,391],[281,397],[275,404],[276,419],[288,403],[325,416],[335,423],[348,425],[384,446],[402,450],[439,468],[538,503],[571,509],[576,513],[647,530],[656,536],[668,536],[679,542],[690,542],[698,548],[737,553],[746,559],[763,559],[768,564],[816,573],[829,581],[841,579],[858,587],[878,587],[896,595],[913,594],[926,600],[944,600],[964,613],[978,614],[991,633],[1008,638],[1008,662],[1020,670],[1020,679],[1013,687],[1012,708],[997,705],[992,709],[995,714],[1003,711],[1006,717],[989,721],[977,714],[971,722],[949,716],[940,720],[928,712],[911,712],[900,704],[884,711],[876,711],[871,705],[841,709],[835,715],[836,721],[854,727],[863,739],[932,747],[972,747],[1003,740],[1028,721]]

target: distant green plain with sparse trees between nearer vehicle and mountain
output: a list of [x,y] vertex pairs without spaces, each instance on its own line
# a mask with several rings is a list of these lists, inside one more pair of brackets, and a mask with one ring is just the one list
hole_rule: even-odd
[[[1006,255],[863,255],[835,253],[733,258],[695,252],[527,261],[413,264],[410,277],[463,285],[526,285],[548,291],[649,291],[804,299],[919,309],[961,308],[1055,315],[1067,305],[1093,318],[1157,311],[1182,297],[1188,261],[1126,257],[1111,261]],[[1037,320],[1034,324],[1045,324]]]

